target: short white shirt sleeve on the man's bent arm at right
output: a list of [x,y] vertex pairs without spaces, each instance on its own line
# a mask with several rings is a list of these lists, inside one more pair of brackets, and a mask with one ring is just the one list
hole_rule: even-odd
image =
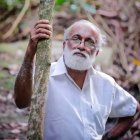
[[109,117],[133,116],[137,109],[136,99],[115,82],[114,100]]

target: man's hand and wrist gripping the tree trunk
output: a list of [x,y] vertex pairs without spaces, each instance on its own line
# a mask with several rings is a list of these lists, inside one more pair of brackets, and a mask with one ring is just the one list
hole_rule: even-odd
[[39,20],[30,33],[29,46],[33,54],[36,53],[37,43],[41,39],[49,39],[52,36],[52,26],[48,20]]

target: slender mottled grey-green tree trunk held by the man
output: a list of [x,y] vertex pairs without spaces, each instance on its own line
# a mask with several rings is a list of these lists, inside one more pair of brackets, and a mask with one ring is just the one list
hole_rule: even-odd
[[[40,19],[52,21],[54,0],[40,0]],[[51,40],[42,40],[38,43],[33,98],[29,116],[28,140],[43,140],[44,131],[44,103],[47,97],[47,81],[51,64]]]

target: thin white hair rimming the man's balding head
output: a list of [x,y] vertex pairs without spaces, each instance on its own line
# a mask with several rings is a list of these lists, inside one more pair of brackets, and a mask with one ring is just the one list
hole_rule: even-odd
[[89,24],[91,27],[94,28],[94,30],[98,33],[98,40],[97,40],[97,48],[98,49],[101,49],[106,44],[106,36],[102,33],[102,31],[99,29],[99,27],[96,24],[93,24],[90,21],[84,20],[84,19],[73,23],[71,26],[69,26],[67,29],[65,29],[64,40],[66,40],[68,38],[72,27],[77,23],[86,23],[86,24]]

